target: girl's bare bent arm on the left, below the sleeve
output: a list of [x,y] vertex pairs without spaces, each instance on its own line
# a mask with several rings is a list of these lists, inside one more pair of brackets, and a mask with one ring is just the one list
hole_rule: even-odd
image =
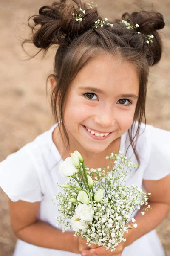
[[[79,253],[74,232],[64,232],[37,219],[40,202],[29,203],[9,199],[11,227],[17,238],[40,247]],[[84,246],[84,248],[88,247]]]

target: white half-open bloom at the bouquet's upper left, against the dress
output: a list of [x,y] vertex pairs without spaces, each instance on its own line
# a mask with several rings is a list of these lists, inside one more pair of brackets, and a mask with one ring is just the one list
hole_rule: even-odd
[[62,177],[70,177],[79,170],[73,165],[71,157],[67,157],[64,162],[59,165],[59,173]]

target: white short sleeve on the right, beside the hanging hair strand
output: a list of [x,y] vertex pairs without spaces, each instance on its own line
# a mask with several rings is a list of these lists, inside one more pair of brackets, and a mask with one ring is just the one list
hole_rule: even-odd
[[170,174],[170,131],[150,125],[148,134],[150,156],[144,180],[160,180]]

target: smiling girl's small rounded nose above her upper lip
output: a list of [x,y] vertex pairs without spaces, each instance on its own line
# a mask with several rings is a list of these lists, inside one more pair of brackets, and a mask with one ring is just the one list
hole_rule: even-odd
[[113,128],[116,120],[112,108],[103,108],[94,118],[94,121],[104,128]]

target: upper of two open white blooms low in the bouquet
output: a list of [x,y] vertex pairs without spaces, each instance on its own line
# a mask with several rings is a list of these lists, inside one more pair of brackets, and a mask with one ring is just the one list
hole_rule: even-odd
[[93,221],[94,210],[91,209],[89,205],[79,204],[75,211],[83,221]]

